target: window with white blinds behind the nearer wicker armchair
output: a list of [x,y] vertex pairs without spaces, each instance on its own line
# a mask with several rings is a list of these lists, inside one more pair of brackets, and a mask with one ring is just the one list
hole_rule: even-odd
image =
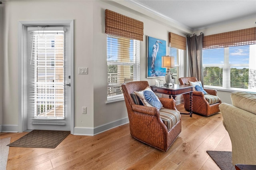
[[140,80],[140,41],[107,36],[108,99],[124,99],[123,83]]

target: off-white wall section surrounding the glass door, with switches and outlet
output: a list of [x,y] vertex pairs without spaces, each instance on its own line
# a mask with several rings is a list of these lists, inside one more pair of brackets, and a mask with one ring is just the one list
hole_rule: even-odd
[[[18,21],[74,19],[75,127],[94,127],[93,1],[2,1],[2,125],[18,125]],[[89,67],[78,75],[78,67]],[[82,106],[87,115],[82,115]]]

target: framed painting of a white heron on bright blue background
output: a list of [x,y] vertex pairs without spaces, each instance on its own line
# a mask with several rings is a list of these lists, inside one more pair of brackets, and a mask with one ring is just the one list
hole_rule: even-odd
[[166,55],[166,41],[148,36],[147,78],[164,77],[166,68],[162,68],[162,56]]

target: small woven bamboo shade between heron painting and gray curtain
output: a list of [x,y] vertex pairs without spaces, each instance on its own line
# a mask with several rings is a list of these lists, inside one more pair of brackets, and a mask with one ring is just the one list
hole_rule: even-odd
[[169,32],[169,42],[173,48],[186,50],[186,37]]

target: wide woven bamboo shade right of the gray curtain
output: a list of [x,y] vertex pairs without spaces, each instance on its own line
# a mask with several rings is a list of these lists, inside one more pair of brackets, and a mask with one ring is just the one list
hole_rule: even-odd
[[203,49],[256,44],[256,27],[204,36]]

